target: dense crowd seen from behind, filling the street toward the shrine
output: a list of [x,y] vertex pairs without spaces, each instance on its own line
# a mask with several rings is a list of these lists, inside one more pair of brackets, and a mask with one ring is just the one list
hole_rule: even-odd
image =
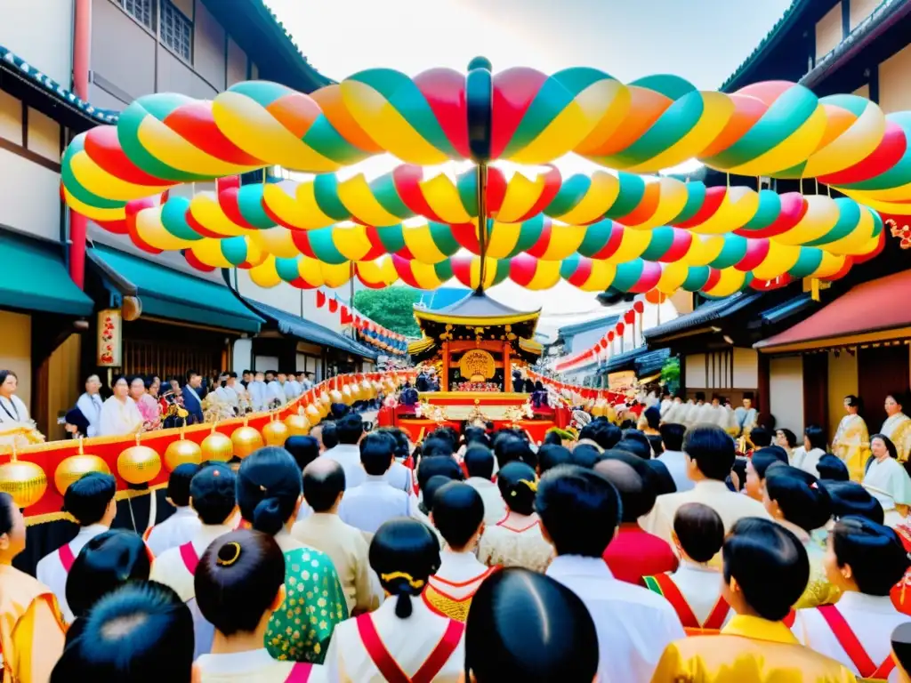
[[[810,430],[789,453],[756,426],[741,458],[659,411],[653,434],[599,417],[576,440],[478,423],[415,444],[339,406],[283,448],[180,465],[143,536],[110,528],[114,478],[84,475],[79,531],[36,577],[0,494],[4,680],[903,676],[911,500],[811,458]],[[896,457],[871,442],[867,477]]]

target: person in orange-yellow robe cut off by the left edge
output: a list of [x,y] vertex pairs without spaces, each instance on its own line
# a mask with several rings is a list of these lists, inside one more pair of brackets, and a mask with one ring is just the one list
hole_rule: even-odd
[[64,649],[67,625],[54,593],[13,566],[26,549],[26,520],[0,493],[0,653],[3,680],[46,681]]

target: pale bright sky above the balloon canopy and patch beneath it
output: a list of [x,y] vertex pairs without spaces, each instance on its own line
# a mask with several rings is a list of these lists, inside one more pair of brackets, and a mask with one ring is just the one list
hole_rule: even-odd
[[[494,71],[593,66],[629,82],[671,73],[717,89],[752,53],[791,0],[266,0],[311,65],[341,80],[385,66],[414,76],[464,71],[486,56]],[[493,290],[516,308],[543,306],[551,323],[605,314],[592,293],[560,283]]]

